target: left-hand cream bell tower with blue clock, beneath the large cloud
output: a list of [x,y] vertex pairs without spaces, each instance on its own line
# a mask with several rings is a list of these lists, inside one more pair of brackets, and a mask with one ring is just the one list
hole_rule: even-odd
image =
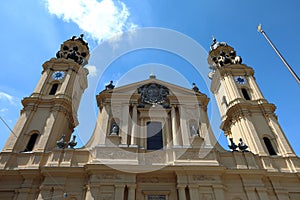
[[29,97],[22,100],[21,115],[3,152],[44,152],[68,141],[78,125],[77,110],[87,88],[88,44],[73,36],[43,64],[41,78]]

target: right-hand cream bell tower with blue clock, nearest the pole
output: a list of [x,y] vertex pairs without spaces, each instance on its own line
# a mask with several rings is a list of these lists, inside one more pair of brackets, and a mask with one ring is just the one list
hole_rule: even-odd
[[295,156],[277,116],[276,106],[260,91],[254,70],[225,42],[213,39],[209,56],[211,91],[215,95],[229,143],[248,145],[262,156]]

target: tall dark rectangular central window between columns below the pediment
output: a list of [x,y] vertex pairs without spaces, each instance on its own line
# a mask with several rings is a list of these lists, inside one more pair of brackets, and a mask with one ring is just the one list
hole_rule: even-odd
[[162,125],[160,122],[147,122],[147,149],[163,148]]

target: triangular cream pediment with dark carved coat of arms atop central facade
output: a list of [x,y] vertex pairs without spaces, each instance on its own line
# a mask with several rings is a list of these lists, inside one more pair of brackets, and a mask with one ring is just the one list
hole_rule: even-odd
[[127,103],[144,102],[148,104],[202,104],[206,106],[209,99],[200,91],[184,88],[156,78],[135,82],[132,84],[105,89],[97,95],[98,105],[111,100]]

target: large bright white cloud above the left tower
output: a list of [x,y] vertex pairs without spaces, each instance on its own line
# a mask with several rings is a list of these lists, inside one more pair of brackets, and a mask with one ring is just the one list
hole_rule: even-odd
[[76,23],[98,42],[136,27],[128,21],[130,12],[120,0],[46,0],[46,3],[51,14]]

